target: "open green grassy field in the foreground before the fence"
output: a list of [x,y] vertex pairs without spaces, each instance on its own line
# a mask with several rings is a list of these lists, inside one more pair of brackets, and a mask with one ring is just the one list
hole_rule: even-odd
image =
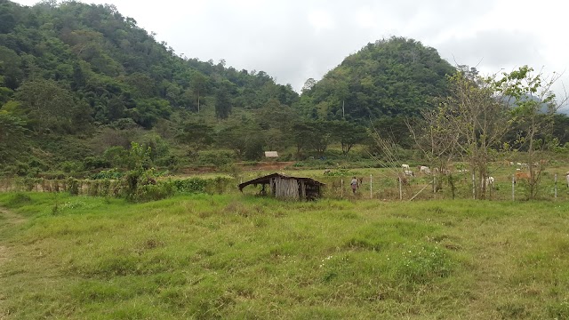
[[0,319],[569,318],[567,202],[0,206]]

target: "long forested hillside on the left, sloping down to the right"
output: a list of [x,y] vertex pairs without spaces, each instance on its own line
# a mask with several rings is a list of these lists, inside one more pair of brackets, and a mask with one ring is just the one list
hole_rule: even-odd
[[[298,94],[262,71],[177,56],[113,5],[0,2],[0,106],[36,134],[149,129],[182,110],[225,118],[271,99],[291,105]],[[213,112],[216,100],[226,103]]]

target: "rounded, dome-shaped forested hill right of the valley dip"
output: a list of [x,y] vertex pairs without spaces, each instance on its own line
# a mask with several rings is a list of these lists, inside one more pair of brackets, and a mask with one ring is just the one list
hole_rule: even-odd
[[[447,93],[454,68],[437,50],[403,37],[367,44],[341,65],[303,88],[302,104],[314,116],[369,121],[418,116]],[[342,114],[342,105],[344,111]]]

